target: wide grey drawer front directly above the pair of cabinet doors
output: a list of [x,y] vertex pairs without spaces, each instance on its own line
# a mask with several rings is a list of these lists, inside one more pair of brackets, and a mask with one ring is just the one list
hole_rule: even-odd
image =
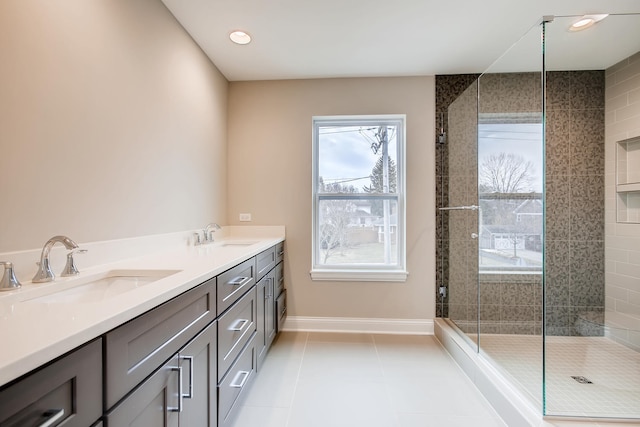
[[107,408],[215,319],[215,283],[213,278],[107,333]]

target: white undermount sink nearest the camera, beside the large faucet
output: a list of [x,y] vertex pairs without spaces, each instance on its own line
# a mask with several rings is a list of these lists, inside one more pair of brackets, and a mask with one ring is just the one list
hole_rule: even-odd
[[125,292],[148,286],[180,270],[110,270],[78,278],[69,287],[46,295],[27,299],[31,303],[75,304],[100,302]]

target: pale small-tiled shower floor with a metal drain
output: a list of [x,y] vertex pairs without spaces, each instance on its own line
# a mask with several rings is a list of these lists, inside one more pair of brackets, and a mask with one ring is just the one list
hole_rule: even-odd
[[[541,336],[483,334],[480,347],[542,407]],[[547,415],[640,418],[639,352],[605,337],[547,337],[546,354]]]

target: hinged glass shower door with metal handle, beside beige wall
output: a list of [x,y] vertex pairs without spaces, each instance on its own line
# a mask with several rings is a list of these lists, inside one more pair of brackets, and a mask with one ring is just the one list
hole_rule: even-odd
[[449,230],[449,319],[463,336],[478,342],[478,83],[448,110],[448,207],[440,214]]

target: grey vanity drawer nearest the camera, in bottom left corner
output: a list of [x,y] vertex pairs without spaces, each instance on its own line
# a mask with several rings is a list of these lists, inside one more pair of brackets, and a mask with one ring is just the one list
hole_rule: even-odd
[[[86,427],[102,415],[102,341],[97,339],[0,391],[2,427]],[[53,419],[58,421],[53,421]]]

